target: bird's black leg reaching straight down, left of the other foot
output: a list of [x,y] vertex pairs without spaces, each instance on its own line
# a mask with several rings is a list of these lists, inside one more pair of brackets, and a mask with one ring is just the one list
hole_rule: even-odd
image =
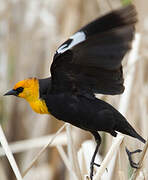
[[96,164],[96,163],[95,163],[95,157],[96,157],[96,155],[97,155],[99,146],[100,146],[100,144],[101,144],[101,137],[100,137],[100,135],[98,134],[98,132],[91,132],[91,133],[92,133],[93,136],[95,137],[95,141],[96,141],[96,143],[97,143],[96,149],[95,149],[95,151],[94,151],[94,154],[93,154],[93,156],[92,156],[91,163],[90,163],[90,179],[93,180],[94,165],[100,166],[99,164]]

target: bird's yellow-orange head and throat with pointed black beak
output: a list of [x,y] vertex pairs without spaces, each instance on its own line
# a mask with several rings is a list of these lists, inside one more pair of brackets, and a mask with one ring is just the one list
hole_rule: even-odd
[[45,101],[40,99],[39,81],[37,78],[29,78],[19,81],[15,84],[12,90],[4,95],[14,95],[24,98],[28,101],[35,112],[40,114],[49,114]]

